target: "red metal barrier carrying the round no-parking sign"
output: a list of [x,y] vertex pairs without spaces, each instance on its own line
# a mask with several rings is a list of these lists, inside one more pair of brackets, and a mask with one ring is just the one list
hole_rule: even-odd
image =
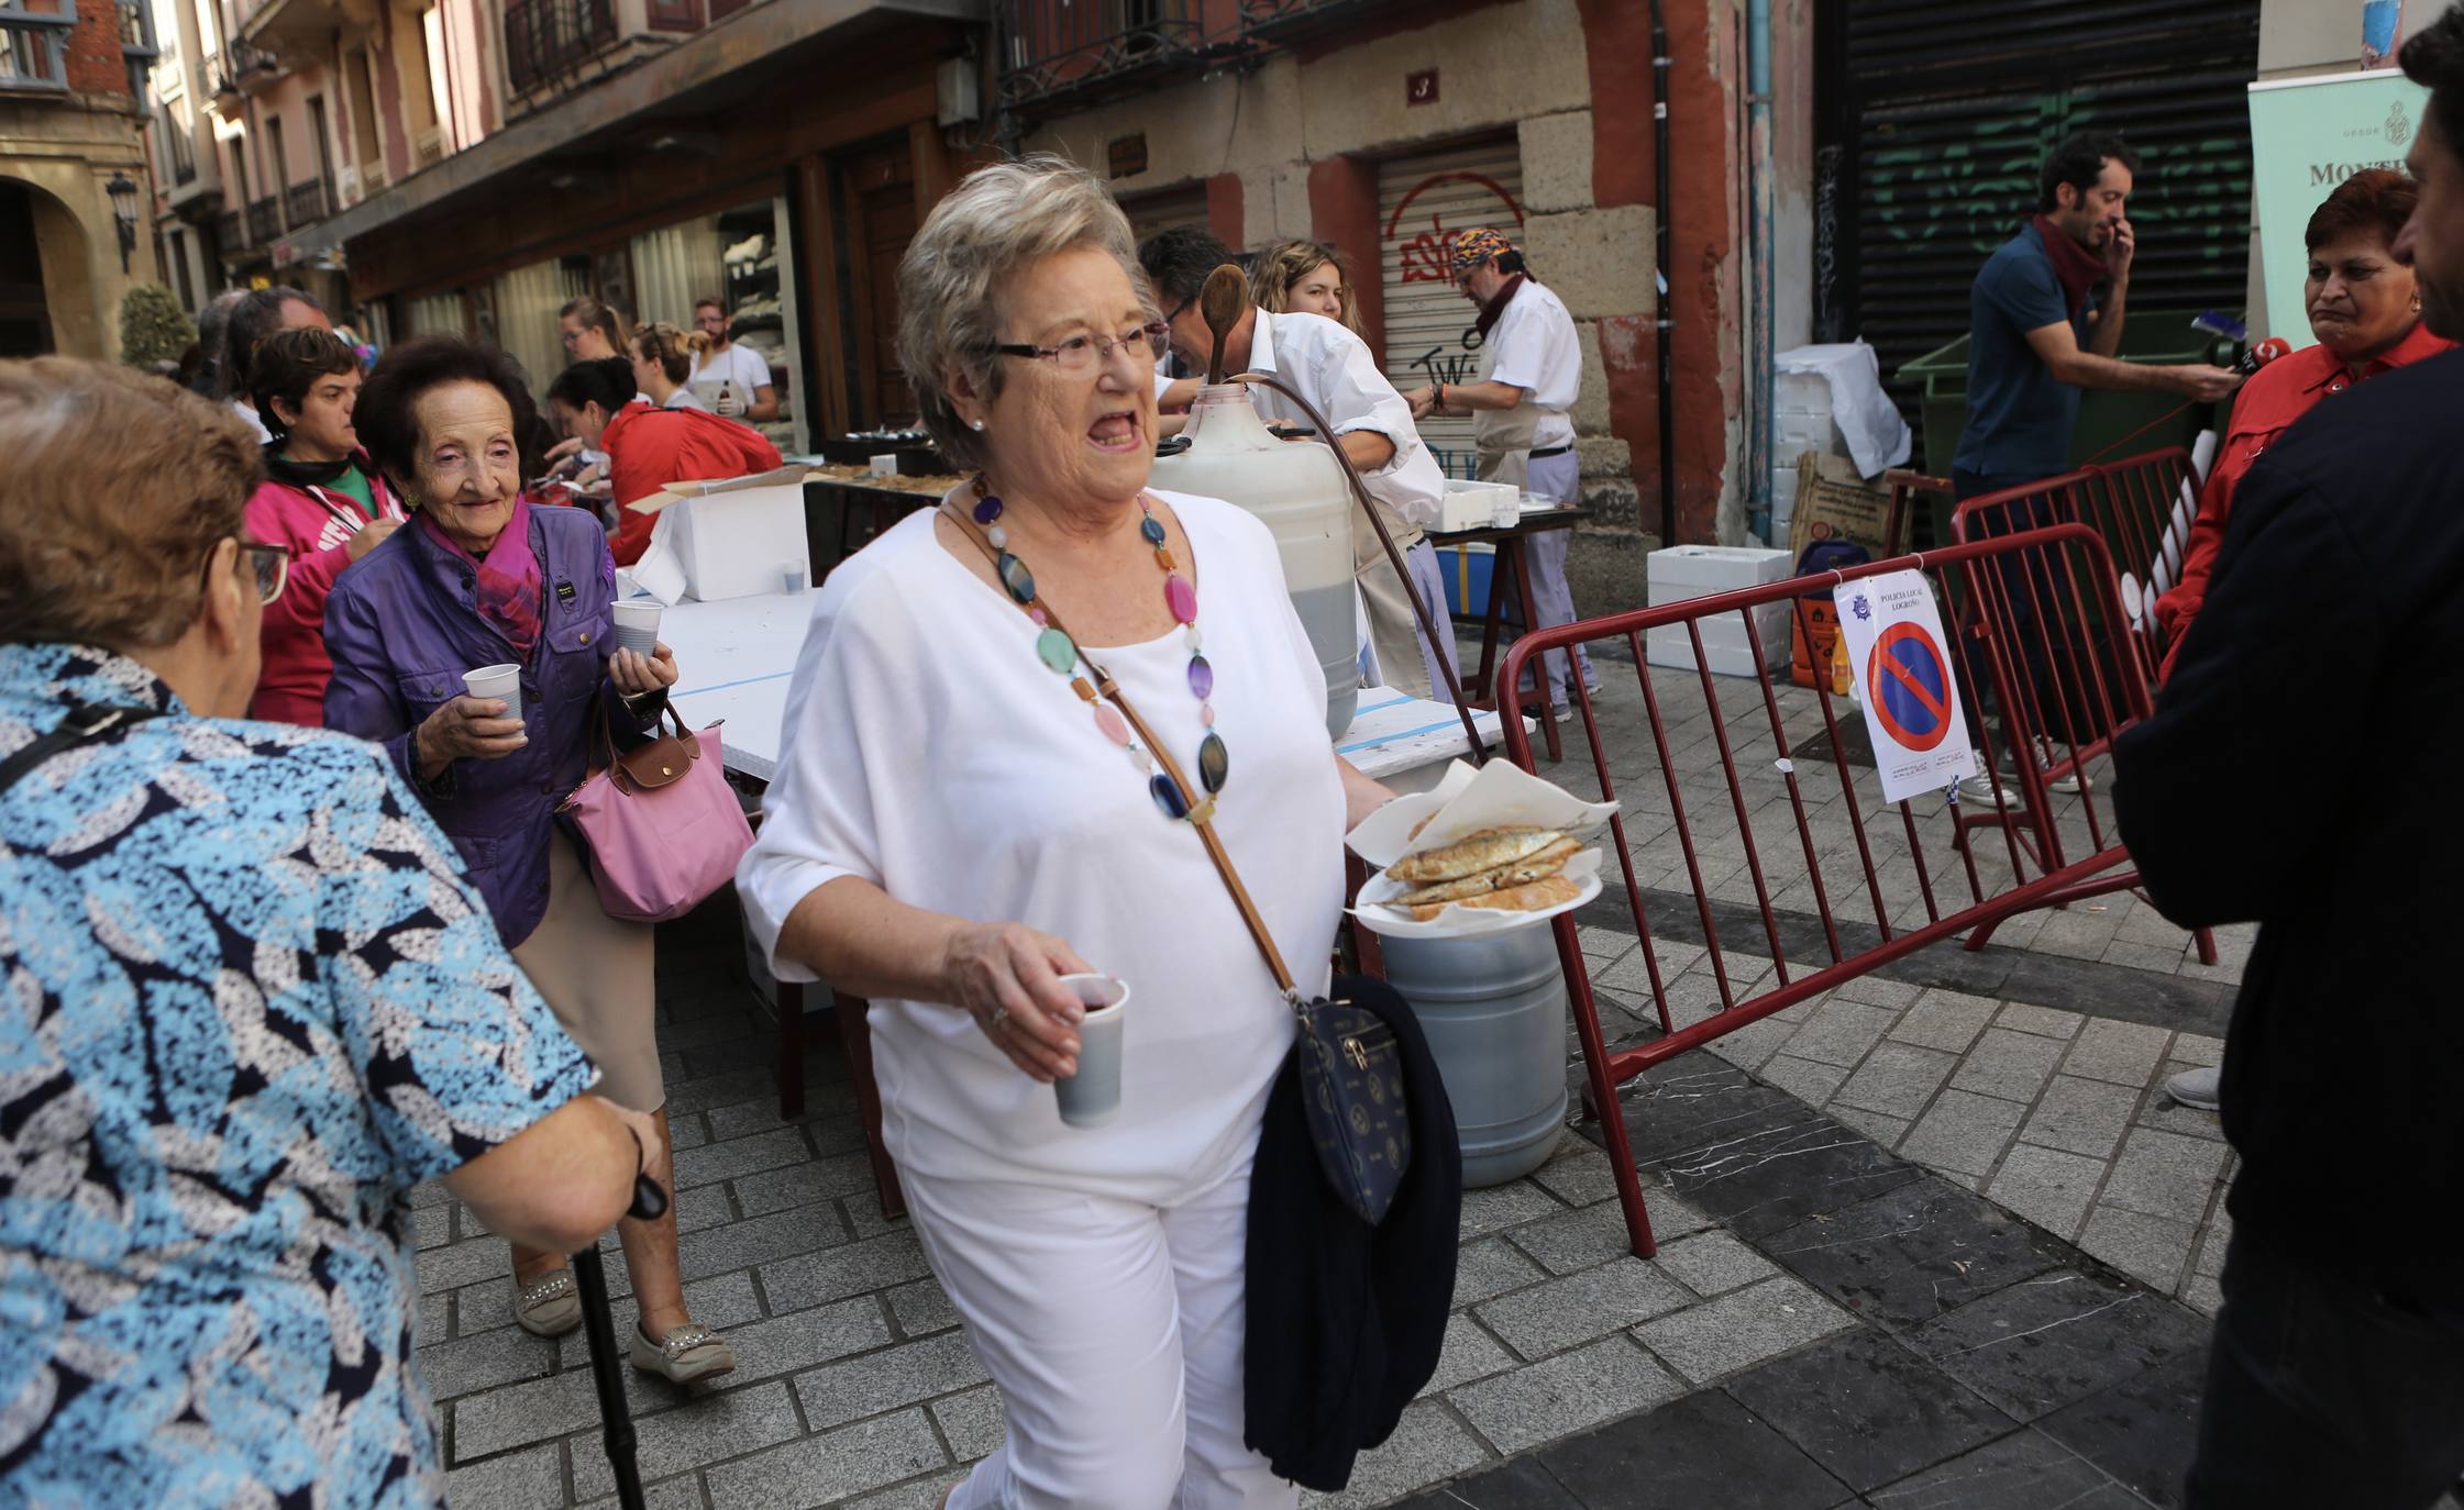
[[[1506,685],[1515,685],[1525,660],[1594,640],[1624,640],[1636,668],[1651,734],[1643,759],[1621,754],[1611,761],[1602,744],[1599,702],[1619,702],[1621,687],[1611,692],[1604,680],[1599,700],[1577,690],[1597,791],[1621,801],[1609,823],[1607,887],[1582,911],[1597,919],[1599,909],[1616,906],[1616,889],[1624,887],[1658,1017],[1656,1037],[1609,1047],[1579,914],[1560,916],[1555,929],[1587,1064],[1584,1101],[1604,1123],[1626,1234],[1646,1259],[1653,1254],[1651,1222],[1616,1113],[1616,1086],[1954,934],[1969,934],[1969,948],[1981,948],[1998,924],[2018,914],[2136,884],[2119,838],[2099,813],[2094,786],[2053,801],[2045,776],[2023,761],[2030,820],[1998,823],[1991,833],[2001,842],[1979,842],[1988,830],[1964,825],[1951,793],[1882,801],[1875,771],[1853,759],[1865,739],[1863,712],[1843,707],[1826,685],[1796,687],[1786,670],[1774,680],[1769,670],[1715,677],[1708,670],[1658,668],[1653,675],[1648,665],[1643,643],[1653,628],[1683,628],[1700,668],[1700,626],[1708,621],[1740,616],[1747,643],[1762,643],[1754,608],[1781,604],[1804,626],[1801,594],[1826,581],[1902,569],[1924,571],[1937,604],[1944,604],[1944,623],[1959,645],[1951,675],[1961,702],[1976,709],[1979,692],[1991,692],[2006,732],[2023,746],[2038,739],[2028,717],[2048,702],[2065,707],[2070,734],[2094,749],[2149,714],[2149,680],[2136,658],[2094,655],[2077,645],[2077,653],[2030,665],[2018,638],[2013,608],[2023,594],[2062,623],[2089,623],[2094,613],[2107,623],[2122,621],[2112,557],[2082,525],[1567,623],[1518,638],[1506,655]],[[1594,658],[1604,677],[1614,675],[1614,658]],[[2020,695],[2023,677],[2030,695]],[[1520,719],[1506,722],[1506,754],[1533,769],[1533,737]],[[1552,776],[1589,796],[1572,764]],[[1626,778],[1624,793],[1619,778]],[[1993,776],[1993,788],[2001,796],[2001,776]],[[2072,850],[2082,857],[2065,860]],[[1683,993],[1673,990],[1676,980],[1663,968],[1666,951],[1651,921],[1653,892],[1676,894],[1678,926],[1700,931],[1700,961],[1688,958],[1683,968],[1695,983]],[[1811,926],[1816,921],[1818,929]],[[1732,958],[1745,958],[1735,948],[1740,934],[1749,948],[1769,951],[1769,963],[1757,958],[1745,978],[1730,968]],[[1698,980],[1705,973],[1708,988]]]

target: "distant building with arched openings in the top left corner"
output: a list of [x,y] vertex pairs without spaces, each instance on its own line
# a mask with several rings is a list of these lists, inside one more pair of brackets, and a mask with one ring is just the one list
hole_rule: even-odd
[[0,5],[0,357],[118,357],[121,296],[155,278],[143,5]]

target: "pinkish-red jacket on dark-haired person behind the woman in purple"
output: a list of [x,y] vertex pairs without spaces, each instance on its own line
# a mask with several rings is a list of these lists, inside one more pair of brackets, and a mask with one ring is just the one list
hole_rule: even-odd
[[[367,453],[362,451],[352,461],[360,463],[367,490],[377,500],[377,517],[407,517],[402,500],[377,475]],[[320,729],[325,724],[325,682],[333,677],[333,660],[325,655],[325,594],[350,564],[350,537],[367,520],[347,493],[274,480],[259,483],[256,493],[249,495],[246,520],[251,539],[291,547],[291,579],[283,584],[283,596],[266,606],[264,670],[256,675],[249,717]]]

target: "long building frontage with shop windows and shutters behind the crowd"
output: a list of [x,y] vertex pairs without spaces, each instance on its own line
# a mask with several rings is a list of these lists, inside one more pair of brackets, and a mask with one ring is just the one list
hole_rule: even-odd
[[[1087,163],[1141,232],[1331,241],[1400,387],[1473,372],[1444,241],[1493,224],[1579,325],[1587,611],[1641,604],[1663,535],[1767,530],[1772,352],[1868,340],[1912,409],[1900,365],[1964,330],[2070,128],[2151,158],[2134,308],[2237,305],[2262,12],[2279,52],[2321,30],[2294,0],[150,2],[185,301],[291,281],[545,379],[577,293],[678,325],[715,296],[798,451],[912,419],[892,273],[998,153]],[[1469,470],[1466,426],[1432,443]]]

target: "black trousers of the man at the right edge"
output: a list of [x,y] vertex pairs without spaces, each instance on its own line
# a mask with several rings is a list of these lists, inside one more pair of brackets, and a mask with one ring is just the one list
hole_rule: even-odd
[[2422,1510],[2464,1473],[2464,1306],[2247,1229],[2225,1251],[2188,1510]]

